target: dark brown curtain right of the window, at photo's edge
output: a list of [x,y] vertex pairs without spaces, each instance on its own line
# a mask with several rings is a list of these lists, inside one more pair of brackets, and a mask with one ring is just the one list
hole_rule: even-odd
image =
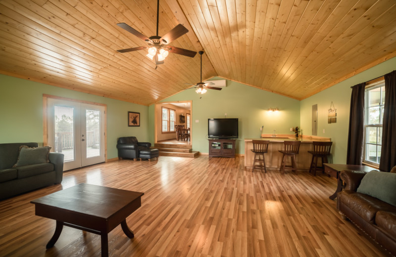
[[382,122],[380,171],[391,171],[396,165],[396,71],[385,76],[385,105]]

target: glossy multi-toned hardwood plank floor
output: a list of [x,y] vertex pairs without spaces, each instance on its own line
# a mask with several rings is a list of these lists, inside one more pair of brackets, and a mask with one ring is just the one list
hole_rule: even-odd
[[120,160],[64,173],[63,182],[0,202],[0,256],[99,257],[100,236],[64,227],[30,201],[78,183],[140,191],[142,207],[108,234],[109,256],[386,256],[329,199],[334,178],[244,170],[244,158]]

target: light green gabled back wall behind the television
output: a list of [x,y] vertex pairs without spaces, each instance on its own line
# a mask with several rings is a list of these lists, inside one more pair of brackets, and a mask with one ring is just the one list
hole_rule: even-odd
[[[218,79],[218,78],[216,78]],[[200,98],[201,97],[201,98]],[[194,89],[184,90],[163,101],[192,100],[193,150],[208,152],[207,119],[239,119],[239,139],[237,153],[244,154],[245,138],[259,138],[261,126],[263,133],[290,134],[291,127],[299,126],[299,101],[274,94],[262,89],[227,81],[221,91],[209,90],[198,95]],[[268,112],[269,108],[278,107],[278,113]],[[150,108],[153,112],[154,108]],[[198,123],[196,121],[199,121]]]

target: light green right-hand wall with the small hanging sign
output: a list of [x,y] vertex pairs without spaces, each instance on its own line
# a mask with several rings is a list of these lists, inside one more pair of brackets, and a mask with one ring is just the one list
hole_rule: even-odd
[[[300,125],[305,134],[311,133],[312,105],[318,105],[318,136],[330,137],[333,141],[333,163],[347,163],[347,140],[351,86],[370,81],[396,69],[396,57],[361,72],[335,86],[323,90],[300,102]],[[337,123],[328,124],[327,115],[333,101],[337,109]],[[323,129],[325,132],[323,133]]]

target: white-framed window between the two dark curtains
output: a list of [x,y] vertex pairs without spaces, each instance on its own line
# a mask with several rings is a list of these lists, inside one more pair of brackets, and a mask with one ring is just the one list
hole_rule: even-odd
[[381,157],[382,120],[385,104],[385,82],[366,87],[364,162],[378,165]]

